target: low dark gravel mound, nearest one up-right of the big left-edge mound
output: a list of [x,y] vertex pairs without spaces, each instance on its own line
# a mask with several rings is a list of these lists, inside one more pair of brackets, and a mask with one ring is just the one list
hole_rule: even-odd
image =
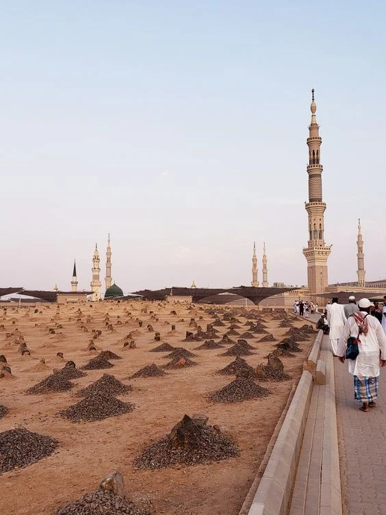
[[93,394],[79,403],[59,412],[60,416],[68,418],[71,422],[81,420],[103,420],[109,416],[118,416],[132,412],[134,405],[119,401],[110,394]]

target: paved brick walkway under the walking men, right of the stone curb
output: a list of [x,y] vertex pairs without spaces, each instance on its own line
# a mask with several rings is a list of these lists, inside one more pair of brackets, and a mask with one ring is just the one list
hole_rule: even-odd
[[337,358],[334,365],[346,514],[386,515],[386,368],[381,369],[377,406],[363,413],[348,365]]

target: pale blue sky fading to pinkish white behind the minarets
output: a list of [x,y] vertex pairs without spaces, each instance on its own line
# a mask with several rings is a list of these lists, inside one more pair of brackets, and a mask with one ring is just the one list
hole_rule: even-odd
[[0,286],[307,283],[315,88],[329,282],[386,277],[386,3],[0,0]]

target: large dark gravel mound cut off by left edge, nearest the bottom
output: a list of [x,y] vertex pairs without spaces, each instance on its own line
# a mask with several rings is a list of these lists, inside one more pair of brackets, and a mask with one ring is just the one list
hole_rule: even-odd
[[0,433],[0,473],[25,467],[55,451],[59,442],[27,429],[10,429]]

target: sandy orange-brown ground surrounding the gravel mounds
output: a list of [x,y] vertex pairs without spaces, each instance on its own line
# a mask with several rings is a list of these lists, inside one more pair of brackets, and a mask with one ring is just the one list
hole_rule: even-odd
[[[82,314],[77,315],[78,309]],[[26,427],[30,431],[47,434],[60,440],[60,447],[53,455],[26,468],[3,473],[0,476],[0,513],[17,515],[51,515],[53,511],[91,492],[99,481],[113,469],[125,477],[127,495],[134,501],[148,504],[154,514],[186,515],[237,515],[252,483],[255,473],[266,451],[266,446],[279,416],[285,406],[293,381],[300,377],[303,361],[313,338],[303,342],[303,352],[294,358],[283,358],[285,372],[293,376],[292,381],[264,383],[272,394],[263,399],[233,404],[214,404],[208,401],[210,392],[222,388],[234,379],[233,376],[216,374],[216,370],[227,366],[234,357],[219,356],[229,346],[209,351],[194,351],[192,358],[198,366],[182,370],[168,370],[165,377],[129,379],[139,368],[152,362],[162,365],[168,360],[165,353],[149,353],[159,343],[169,342],[175,347],[194,349],[203,342],[183,342],[190,318],[206,329],[214,321],[205,312],[207,307],[196,306],[193,311],[187,306],[170,303],[99,303],[60,307],[44,305],[41,313],[34,308],[8,309],[0,318],[0,353],[7,357],[12,368],[12,378],[0,379],[0,403],[10,412],[0,420],[0,431],[14,427]],[[147,309],[147,312],[143,310]],[[222,307],[210,306],[221,314]],[[171,314],[176,310],[177,315]],[[153,312],[153,313],[151,313]],[[239,310],[240,312],[240,310]],[[114,331],[107,330],[105,314],[109,314]],[[87,316],[92,320],[86,322]],[[118,318],[118,316],[120,318]],[[158,321],[155,321],[155,316]],[[278,328],[279,321],[272,321],[270,314],[263,314],[268,321],[268,331],[281,339],[287,331]],[[202,319],[200,319],[203,317]],[[183,318],[184,321],[181,321]],[[239,325],[247,318],[237,316]],[[138,327],[138,319],[143,326]],[[118,324],[120,322],[120,324]],[[307,321],[294,323],[300,327]],[[155,342],[154,332],[146,325],[153,325],[162,336]],[[49,328],[60,324],[55,334]],[[171,331],[171,324],[176,330]],[[81,329],[88,328],[88,332]],[[216,327],[220,336],[229,329]],[[21,331],[31,349],[31,355],[18,353],[14,338],[6,338],[6,332]],[[92,329],[100,329],[97,351],[88,351]],[[242,327],[240,332],[245,331]],[[123,349],[122,339],[130,331],[137,331],[134,340],[136,349]],[[194,329],[193,329],[194,331]],[[274,349],[272,343],[257,343],[264,335],[255,335],[248,340],[257,347],[255,355],[244,359],[256,366],[264,356]],[[237,340],[236,336],[231,337]],[[70,392],[44,395],[25,394],[25,390],[52,373],[53,368],[64,366],[73,360],[77,367],[86,364],[101,350],[110,349],[123,360],[114,360],[108,370],[89,370],[86,377],[72,381],[76,388]],[[64,359],[56,353],[64,353]],[[44,357],[46,365],[40,364]],[[128,414],[106,418],[99,422],[71,423],[57,416],[57,412],[77,403],[75,392],[88,386],[103,373],[114,374],[117,379],[133,386],[133,392],[124,401],[135,403],[136,409]],[[198,466],[176,466],[158,470],[135,470],[133,460],[149,444],[162,438],[182,416],[195,412],[209,416],[209,424],[217,424],[222,431],[229,432],[240,446],[240,457]]]

